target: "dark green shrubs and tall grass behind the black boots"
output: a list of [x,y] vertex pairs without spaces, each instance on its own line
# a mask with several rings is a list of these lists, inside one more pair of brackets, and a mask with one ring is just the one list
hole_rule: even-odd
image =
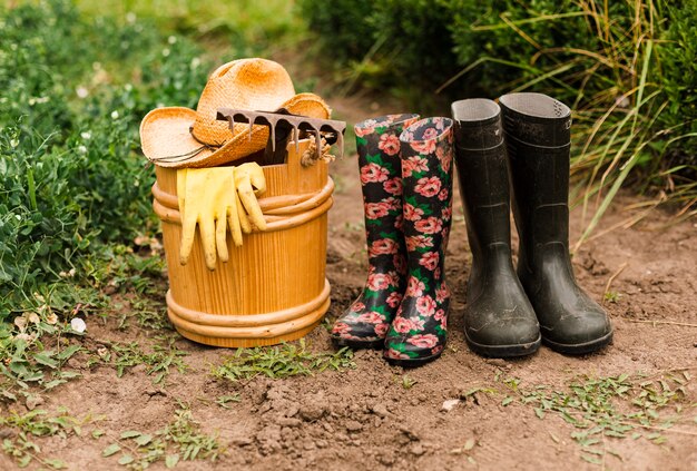
[[[300,1],[311,24],[313,14],[332,13],[314,13],[318,3]],[[640,204],[647,210],[671,203],[679,217],[697,214],[696,2],[337,3],[367,9],[371,31],[370,40],[364,31],[352,35],[341,19],[320,27],[326,49],[341,48],[340,39],[363,45],[348,58],[332,57],[382,94],[416,85],[420,111],[448,112],[452,99],[511,91],[544,92],[571,106],[572,200],[582,205],[586,227],[579,243],[591,237],[621,187],[649,195]]]

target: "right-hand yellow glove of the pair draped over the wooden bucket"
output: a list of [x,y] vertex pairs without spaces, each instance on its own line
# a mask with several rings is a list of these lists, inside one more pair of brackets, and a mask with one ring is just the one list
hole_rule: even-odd
[[256,200],[258,195],[266,192],[266,178],[264,178],[262,167],[256,163],[242,164],[235,167],[235,187],[237,188],[237,213],[242,230],[249,234],[252,224],[259,230],[266,230],[266,219],[264,219],[259,203]]

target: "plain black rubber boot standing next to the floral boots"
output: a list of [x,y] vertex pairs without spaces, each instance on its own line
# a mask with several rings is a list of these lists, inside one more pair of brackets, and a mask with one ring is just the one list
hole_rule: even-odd
[[492,100],[477,98],[452,104],[452,115],[460,195],[472,251],[464,337],[480,355],[529,355],[540,347],[540,326],[511,259],[501,109]]

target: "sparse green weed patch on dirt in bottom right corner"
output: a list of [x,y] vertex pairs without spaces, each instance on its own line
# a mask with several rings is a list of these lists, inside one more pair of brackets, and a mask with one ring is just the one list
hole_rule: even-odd
[[662,444],[671,432],[697,435],[680,429],[693,421],[697,411],[697,403],[690,403],[686,395],[691,381],[688,370],[659,377],[585,376],[569,382],[565,389],[543,384],[522,387],[519,380],[508,379],[504,383],[510,393],[501,404],[528,405],[540,420],[548,414],[561,418],[573,426],[570,436],[580,448],[581,458],[602,464],[606,454],[621,459],[612,448],[617,444],[621,450],[615,440],[644,439]]

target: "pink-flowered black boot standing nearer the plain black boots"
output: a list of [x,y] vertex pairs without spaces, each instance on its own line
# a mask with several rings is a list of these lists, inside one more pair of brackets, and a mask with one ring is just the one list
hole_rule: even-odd
[[385,338],[391,364],[419,366],[445,347],[450,291],[444,258],[452,217],[453,121],[426,118],[402,141],[406,292]]

